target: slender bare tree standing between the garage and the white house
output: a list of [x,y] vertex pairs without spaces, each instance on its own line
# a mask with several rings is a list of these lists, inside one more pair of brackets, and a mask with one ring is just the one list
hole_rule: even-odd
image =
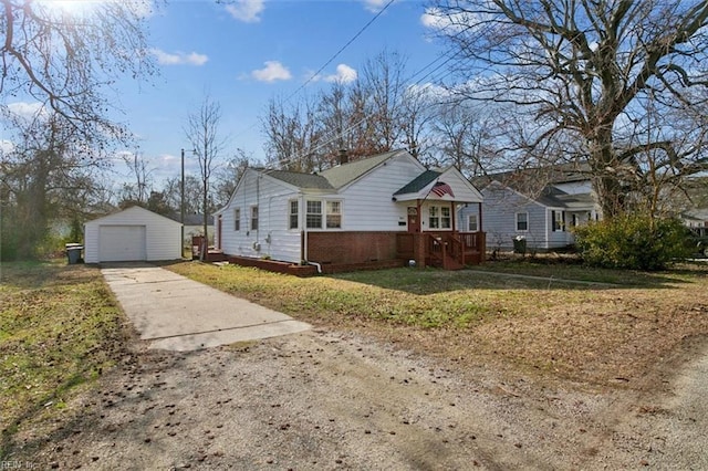
[[226,147],[226,140],[219,135],[219,124],[221,123],[221,106],[212,102],[207,95],[199,107],[199,111],[189,114],[185,134],[194,148],[194,153],[199,161],[199,172],[201,175],[201,212],[204,214],[205,247],[202,247],[200,259],[204,260],[207,252],[206,234],[209,216],[209,179],[218,159]]

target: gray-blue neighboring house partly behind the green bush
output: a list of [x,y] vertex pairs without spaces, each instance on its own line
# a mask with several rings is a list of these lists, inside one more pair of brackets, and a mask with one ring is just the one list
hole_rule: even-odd
[[[587,168],[583,164],[524,169],[480,177],[487,245],[511,250],[522,240],[529,250],[549,251],[574,243],[571,228],[601,218]],[[465,230],[477,230],[479,208],[460,217]]]

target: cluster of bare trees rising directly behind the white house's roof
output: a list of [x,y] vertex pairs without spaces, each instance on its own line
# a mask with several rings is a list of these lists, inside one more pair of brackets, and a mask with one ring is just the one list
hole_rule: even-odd
[[336,165],[341,149],[352,160],[400,147],[420,155],[427,97],[406,83],[405,65],[400,54],[384,51],[352,84],[335,82],[294,105],[271,101],[263,119],[269,164],[313,171]]

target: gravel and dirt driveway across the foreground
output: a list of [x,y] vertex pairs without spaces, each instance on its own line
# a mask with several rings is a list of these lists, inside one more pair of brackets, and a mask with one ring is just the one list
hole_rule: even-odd
[[61,423],[35,461],[92,470],[707,469],[696,397],[705,383],[704,360],[670,397],[573,390],[485,365],[460,371],[321,328],[190,353],[137,349],[72,406],[80,418]]

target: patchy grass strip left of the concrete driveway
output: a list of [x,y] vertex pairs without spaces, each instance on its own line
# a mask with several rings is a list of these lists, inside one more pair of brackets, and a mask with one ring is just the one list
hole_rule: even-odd
[[3,263],[0,278],[0,458],[12,436],[114,364],[128,329],[96,269]]

